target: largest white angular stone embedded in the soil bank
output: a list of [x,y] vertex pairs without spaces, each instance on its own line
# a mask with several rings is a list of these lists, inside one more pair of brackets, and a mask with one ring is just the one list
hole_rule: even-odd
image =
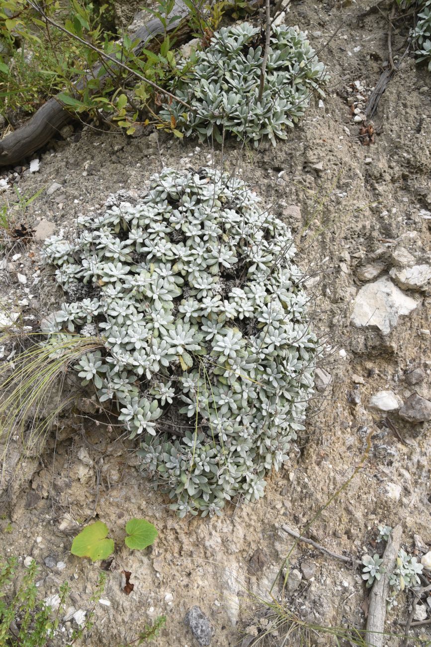
[[361,287],[353,300],[350,318],[357,328],[378,329],[389,334],[401,315],[410,314],[417,301],[401,291],[388,276]]

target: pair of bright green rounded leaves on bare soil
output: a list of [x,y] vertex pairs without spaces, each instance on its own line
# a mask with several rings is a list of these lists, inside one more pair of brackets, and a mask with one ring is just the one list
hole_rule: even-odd
[[[125,545],[132,550],[140,551],[151,545],[158,535],[152,523],[136,518],[127,521],[126,532]],[[92,562],[105,560],[114,552],[114,541],[107,537],[108,534],[109,529],[103,521],[90,523],[76,535],[70,553],[78,557],[89,557]]]

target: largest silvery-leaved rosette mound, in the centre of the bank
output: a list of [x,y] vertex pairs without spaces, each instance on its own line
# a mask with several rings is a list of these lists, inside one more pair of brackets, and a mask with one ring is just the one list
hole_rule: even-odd
[[142,199],[110,196],[78,224],[45,243],[73,296],[48,343],[96,327],[104,348],[78,376],[140,437],[143,472],[180,516],[260,498],[304,428],[319,353],[288,226],[205,168],[165,168]]

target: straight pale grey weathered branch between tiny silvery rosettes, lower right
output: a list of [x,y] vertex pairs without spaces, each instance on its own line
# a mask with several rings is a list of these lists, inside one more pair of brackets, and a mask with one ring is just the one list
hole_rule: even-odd
[[383,647],[386,598],[389,594],[389,576],[394,571],[400,542],[401,525],[397,525],[390,534],[383,554],[381,569],[384,569],[384,573],[379,580],[375,580],[370,593],[370,608],[368,609],[365,633],[365,642],[368,647]]

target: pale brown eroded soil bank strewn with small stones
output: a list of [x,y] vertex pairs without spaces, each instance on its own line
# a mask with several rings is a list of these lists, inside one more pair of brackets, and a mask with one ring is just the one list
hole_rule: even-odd
[[[306,442],[268,478],[266,496],[258,503],[227,507],[221,518],[178,520],[136,469],[135,443],[95,422],[89,406],[87,412],[61,417],[57,438],[53,433],[40,463],[28,461],[27,477],[5,507],[1,553],[34,557],[45,596],[69,580],[76,610],[90,607],[98,567],[70,555],[71,538],[79,523],[95,516],[111,529],[120,549],[103,594],[109,605],[98,605],[87,640],[92,647],[132,641],[161,613],[167,623],[154,644],[190,647],[197,643],[184,617],[194,605],[213,624],[213,647],[241,644],[249,625],[249,634],[257,633],[253,596],[268,596],[293,543],[282,526],[303,529],[352,476],[364,453],[363,468],[308,536],[335,553],[360,558],[374,550],[370,540],[377,523],[401,522],[407,549],[414,551],[414,534],[431,547],[430,423],[410,423],[396,410],[370,406],[380,391],[393,391],[403,403],[413,393],[431,397],[429,287],[408,283],[403,274],[406,268],[430,265],[431,77],[405,58],[379,104],[375,143],[363,146],[350,105],[365,104],[388,56],[382,14],[357,21],[366,8],[293,3],[287,20],[308,29],[316,49],[341,25],[321,52],[331,74],[324,105],[313,100],[300,126],[275,149],[240,150],[229,144],[224,150],[227,170],[240,168],[297,234],[299,263],[310,274],[315,327],[333,345],[324,367],[331,383],[315,400]],[[37,173],[16,171],[26,196],[45,187],[26,214],[37,239],[21,256],[3,261],[0,286],[1,299],[30,317],[30,325],[61,300],[41,268],[44,236],[74,227],[77,215],[97,209],[108,193],[142,190],[162,166],[220,164],[220,151],[163,135],[124,138],[75,127],[39,158]],[[54,182],[59,186],[52,190]],[[13,200],[12,189],[5,195]],[[376,281],[381,281],[377,288]],[[362,327],[353,325],[352,312]],[[413,369],[421,369],[419,382],[407,375]],[[125,521],[132,516],[147,518],[159,531],[152,549],[143,553],[121,549]],[[284,595],[289,611],[315,624],[364,627],[367,593],[359,569],[304,543],[291,556],[293,568],[302,580]],[[122,570],[132,572],[129,596],[121,590]],[[402,633],[397,623],[408,615],[406,599],[401,595],[388,615],[388,631]],[[74,622],[64,623],[65,632]],[[412,635],[429,641],[430,626]],[[308,640],[331,641],[318,632],[309,632]],[[62,641],[59,634],[58,644]],[[299,635],[286,643],[273,636],[268,644],[300,644]],[[388,646],[399,644],[397,637],[386,639]]]

